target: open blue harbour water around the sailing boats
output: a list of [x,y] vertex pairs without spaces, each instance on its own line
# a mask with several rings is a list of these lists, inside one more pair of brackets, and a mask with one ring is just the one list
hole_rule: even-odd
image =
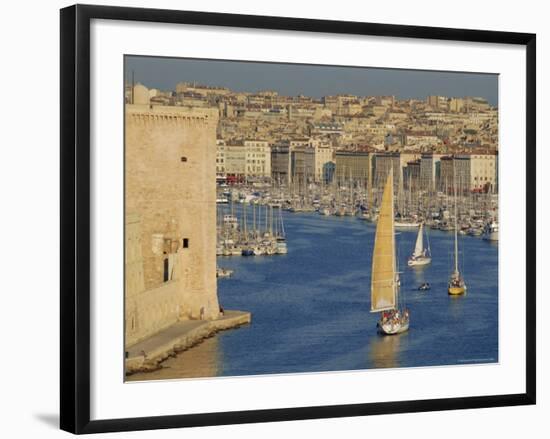
[[[283,215],[287,255],[218,257],[219,266],[235,270],[218,282],[221,305],[251,311],[252,323],[168,360],[174,373],[186,362],[193,376],[201,375],[197,368],[203,376],[236,376],[498,361],[497,245],[459,238],[468,292],[452,297],[447,281],[454,235],[429,231],[432,264],[409,268],[416,231],[400,232],[410,330],[382,336],[376,332],[379,315],[370,312],[375,226],[353,217]],[[424,281],[432,289],[417,291]]]

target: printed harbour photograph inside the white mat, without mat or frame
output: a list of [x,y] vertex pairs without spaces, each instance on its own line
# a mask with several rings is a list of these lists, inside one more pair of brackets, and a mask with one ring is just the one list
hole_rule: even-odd
[[125,382],[499,363],[498,73],[126,54],[120,97]]

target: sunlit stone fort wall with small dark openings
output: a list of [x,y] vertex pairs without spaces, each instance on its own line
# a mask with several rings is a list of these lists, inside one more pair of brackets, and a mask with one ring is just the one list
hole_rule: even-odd
[[128,346],[219,315],[217,111],[128,104],[125,122]]

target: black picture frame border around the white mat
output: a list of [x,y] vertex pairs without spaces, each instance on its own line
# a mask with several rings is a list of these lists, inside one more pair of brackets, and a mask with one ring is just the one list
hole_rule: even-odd
[[[131,20],[325,32],[526,48],[525,393],[224,413],[90,420],[90,21]],[[75,5],[61,10],[61,429],[72,433],[305,420],[535,404],[536,401],[536,35],[303,18]]]

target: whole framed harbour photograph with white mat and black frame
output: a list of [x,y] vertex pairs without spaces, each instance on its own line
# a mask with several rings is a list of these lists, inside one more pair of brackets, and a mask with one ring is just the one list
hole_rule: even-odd
[[61,10],[61,428],[535,403],[535,35]]

